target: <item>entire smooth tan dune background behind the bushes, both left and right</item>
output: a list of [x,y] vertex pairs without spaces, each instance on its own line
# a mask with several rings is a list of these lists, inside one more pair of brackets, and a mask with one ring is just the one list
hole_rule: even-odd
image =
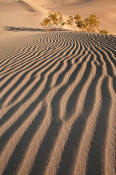
[[61,11],[65,18],[79,13],[100,17],[101,28],[116,34],[115,0],[0,0],[0,28],[2,26],[41,27],[48,10]]

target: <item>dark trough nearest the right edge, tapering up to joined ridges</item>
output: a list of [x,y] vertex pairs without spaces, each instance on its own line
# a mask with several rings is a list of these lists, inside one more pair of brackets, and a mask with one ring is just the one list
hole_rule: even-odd
[[86,175],[103,175],[104,144],[108,124],[111,96],[108,89],[108,78],[102,84],[102,105],[96,122],[96,129],[88,155]]

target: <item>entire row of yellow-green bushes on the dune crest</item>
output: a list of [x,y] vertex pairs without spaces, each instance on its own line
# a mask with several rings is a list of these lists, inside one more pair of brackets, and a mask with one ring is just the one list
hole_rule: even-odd
[[99,24],[100,19],[95,14],[91,14],[85,19],[82,19],[82,17],[79,14],[76,14],[74,17],[69,16],[68,19],[64,21],[62,13],[54,11],[49,11],[48,17],[44,18],[41,22],[41,25],[44,27],[48,26],[62,28],[64,25],[68,25],[69,27],[72,27],[73,29],[78,31],[107,35],[108,31],[105,29],[99,29]]

